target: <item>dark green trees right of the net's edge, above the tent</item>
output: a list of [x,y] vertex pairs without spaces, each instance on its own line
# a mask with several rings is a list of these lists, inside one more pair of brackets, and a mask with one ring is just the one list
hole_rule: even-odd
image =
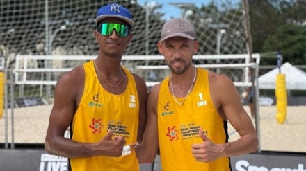
[[[249,3],[253,53],[276,57],[276,51],[281,51],[284,62],[305,62],[305,51],[300,46],[305,47],[305,33],[301,32],[305,30],[306,0],[249,0]],[[261,65],[265,64],[276,62],[263,57]]]

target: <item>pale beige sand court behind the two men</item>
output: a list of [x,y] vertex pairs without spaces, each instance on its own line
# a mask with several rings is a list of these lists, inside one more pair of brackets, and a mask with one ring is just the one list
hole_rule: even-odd
[[[248,106],[244,106],[250,114]],[[20,107],[13,110],[15,143],[44,143],[52,105]],[[261,151],[306,152],[306,106],[288,106],[284,124],[277,123],[276,106],[259,107]],[[8,110],[8,142],[12,142],[11,110]],[[252,119],[254,125],[255,120]],[[0,119],[0,143],[5,140],[6,118]],[[239,135],[229,125],[230,141]]]

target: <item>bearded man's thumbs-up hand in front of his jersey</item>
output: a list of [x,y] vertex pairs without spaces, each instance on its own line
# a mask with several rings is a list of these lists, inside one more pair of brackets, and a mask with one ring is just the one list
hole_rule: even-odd
[[202,128],[199,129],[199,136],[202,138],[203,143],[193,144],[191,153],[196,161],[210,162],[220,157],[220,145],[216,145],[203,134]]

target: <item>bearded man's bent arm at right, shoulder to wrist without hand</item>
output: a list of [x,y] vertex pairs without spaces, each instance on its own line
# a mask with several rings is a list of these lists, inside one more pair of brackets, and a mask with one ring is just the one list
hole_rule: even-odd
[[[243,109],[239,92],[232,80],[225,75],[220,75],[220,81],[224,87],[224,89],[221,89],[221,92],[218,93],[220,105],[225,117],[240,136],[238,140],[225,144],[223,155],[238,156],[255,152],[258,147],[257,134],[250,116],[248,116],[245,109]],[[221,83],[219,82],[218,84]]]

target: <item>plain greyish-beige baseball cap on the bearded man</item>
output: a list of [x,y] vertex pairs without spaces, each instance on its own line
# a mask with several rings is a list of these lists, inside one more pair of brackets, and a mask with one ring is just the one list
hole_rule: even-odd
[[182,18],[174,18],[166,21],[161,29],[161,42],[170,37],[186,37],[187,39],[195,39],[195,28],[188,20]]

